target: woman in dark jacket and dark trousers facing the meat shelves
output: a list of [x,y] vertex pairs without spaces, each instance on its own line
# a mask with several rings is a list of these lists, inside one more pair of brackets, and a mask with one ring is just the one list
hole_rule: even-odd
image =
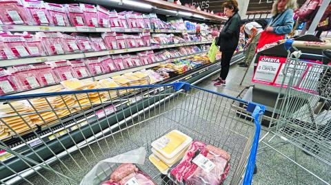
[[225,79],[229,73],[230,61],[239,42],[241,19],[238,14],[238,2],[236,0],[225,1],[223,7],[224,13],[229,19],[225,22],[222,31],[219,33],[217,45],[219,45],[219,50],[222,52],[221,74],[219,78],[213,80],[214,86],[225,85]]

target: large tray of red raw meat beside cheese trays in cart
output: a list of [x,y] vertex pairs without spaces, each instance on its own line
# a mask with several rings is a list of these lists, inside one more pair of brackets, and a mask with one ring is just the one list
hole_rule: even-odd
[[172,180],[190,185],[219,185],[230,169],[230,154],[222,149],[194,141],[181,162],[169,172]]

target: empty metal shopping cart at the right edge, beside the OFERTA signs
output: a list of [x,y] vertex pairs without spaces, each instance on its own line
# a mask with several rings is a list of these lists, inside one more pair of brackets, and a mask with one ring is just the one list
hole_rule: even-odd
[[[320,174],[315,174],[314,169],[305,168],[303,163],[298,163],[277,149],[277,144],[293,144],[302,149],[306,154],[316,157],[324,162],[326,168],[331,167],[331,65],[330,61],[308,61],[299,58],[321,58],[325,56],[302,53],[297,49],[310,48],[317,50],[331,49],[330,43],[292,41],[285,42],[288,50],[288,59],[281,67],[277,81],[281,81],[277,103],[269,128],[273,133],[272,138],[263,144],[276,150],[294,164],[302,167],[308,173],[317,177],[321,182],[330,184],[328,179],[323,179]],[[290,52],[291,49],[294,52]],[[329,65],[328,65],[329,63]],[[277,109],[279,109],[277,111]],[[272,142],[279,136],[281,142]],[[281,144],[282,143],[282,144]],[[274,146],[273,146],[274,145]],[[262,152],[263,147],[260,148]],[[324,177],[325,178],[325,177]]]

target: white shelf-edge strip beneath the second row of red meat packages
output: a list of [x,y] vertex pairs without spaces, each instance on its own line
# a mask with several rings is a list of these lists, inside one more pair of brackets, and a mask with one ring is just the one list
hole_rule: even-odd
[[63,54],[63,55],[54,55],[54,56],[38,56],[38,57],[30,57],[30,58],[17,58],[10,60],[0,61],[0,67],[6,67],[11,65],[21,65],[21,64],[30,64],[30,63],[43,63],[47,61],[60,61],[60,60],[70,60],[76,58],[86,58],[92,56],[103,56],[107,54],[123,54],[130,52],[141,52],[146,50],[156,50],[156,49],[164,49],[170,47],[180,47],[185,45],[199,45],[199,44],[208,44],[212,43],[212,41],[203,41],[203,42],[190,42],[190,43],[180,43],[180,44],[170,44],[170,45],[156,45],[152,47],[135,47],[123,50],[106,50],[101,52],[87,52],[87,53],[79,53],[79,54]]

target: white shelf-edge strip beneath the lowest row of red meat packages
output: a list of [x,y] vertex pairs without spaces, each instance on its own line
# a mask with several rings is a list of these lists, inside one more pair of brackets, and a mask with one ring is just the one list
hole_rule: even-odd
[[[201,52],[201,53],[197,53],[197,54],[191,54],[191,55],[188,55],[188,56],[181,56],[179,58],[171,58],[171,59],[169,59],[167,61],[163,61],[163,62],[159,62],[159,63],[152,63],[152,64],[149,64],[149,65],[141,65],[141,66],[138,66],[138,67],[132,67],[130,69],[121,70],[119,72],[113,72],[113,73],[109,73],[109,74],[101,74],[99,76],[92,76],[90,78],[83,78],[81,80],[83,82],[91,82],[91,81],[94,81],[94,80],[101,80],[103,78],[110,78],[112,76],[126,74],[126,73],[129,73],[129,72],[136,72],[136,71],[139,71],[141,69],[148,69],[148,68],[152,68],[152,67],[157,67],[157,66],[162,65],[162,64],[165,64],[165,63],[170,63],[171,60],[174,60],[174,59],[181,60],[181,59],[191,58],[193,56],[201,55],[201,54],[205,54],[205,53],[207,53],[207,52]],[[51,85],[51,86],[48,86],[48,87],[41,87],[41,88],[38,88],[38,89],[31,89],[31,90],[28,90],[28,91],[22,91],[22,92],[16,93],[14,95],[37,94],[37,93],[40,93],[41,91],[43,91],[43,92],[49,91],[50,89],[53,89],[54,87],[60,87],[60,88],[62,88],[62,85]]]

